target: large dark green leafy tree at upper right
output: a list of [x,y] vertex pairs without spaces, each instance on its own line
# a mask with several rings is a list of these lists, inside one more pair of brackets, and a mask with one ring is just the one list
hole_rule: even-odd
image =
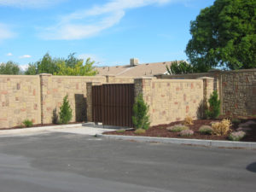
[[186,48],[201,71],[256,67],[256,1],[216,0],[191,21]]

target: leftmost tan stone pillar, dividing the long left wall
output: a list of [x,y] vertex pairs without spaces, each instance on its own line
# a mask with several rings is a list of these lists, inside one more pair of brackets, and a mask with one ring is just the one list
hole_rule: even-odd
[[41,90],[41,123],[52,123],[53,117],[53,96],[52,96],[52,74],[41,73],[40,90]]

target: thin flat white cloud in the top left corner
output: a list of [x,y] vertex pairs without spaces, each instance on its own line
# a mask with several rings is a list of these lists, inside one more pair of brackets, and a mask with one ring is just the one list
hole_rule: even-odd
[[0,0],[0,6],[18,8],[44,8],[66,0]]

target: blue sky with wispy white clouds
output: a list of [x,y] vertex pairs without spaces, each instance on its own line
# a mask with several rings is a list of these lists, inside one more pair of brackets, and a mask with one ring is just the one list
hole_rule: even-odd
[[0,0],[0,62],[46,52],[100,66],[187,59],[189,23],[214,0]]

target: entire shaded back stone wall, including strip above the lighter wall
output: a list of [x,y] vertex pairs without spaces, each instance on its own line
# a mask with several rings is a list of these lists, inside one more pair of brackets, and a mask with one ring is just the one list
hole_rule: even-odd
[[157,75],[156,77],[158,79],[213,78],[214,90],[218,90],[221,101],[221,113],[230,116],[250,116],[256,114],[256,69]]

